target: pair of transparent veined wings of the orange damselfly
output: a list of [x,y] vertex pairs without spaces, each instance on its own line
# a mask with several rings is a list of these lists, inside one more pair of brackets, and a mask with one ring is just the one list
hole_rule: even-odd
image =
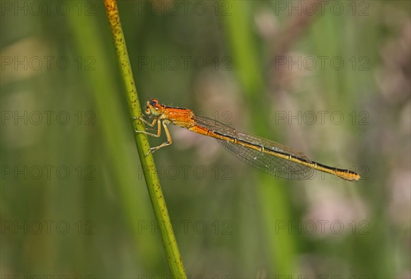
[[[255,135],[249,135],[246,133],[237,132],[232,127],[212,120],[209,118],[195,117],[195,121],[201,127],[210,129],[211,131],[220,133],[222,135],[227,135],[229,137],[235,137],[236,139],[247,142],[249,144],[258,145],[264,147],[264,149],[274,150],[285,155],[292,155],[298,157],[302,161],[311,163],[311,161],[304,155],[302,152],[284,146],[277,142],[273,142],[269,139],[264,139],[262,137],[257,137]],[[310,179],[314,175],[314,169],[306,165],[301,165],[293,161],[288,161],[274,155],[267,154],[258,150],[253,150],[239,144],[234,144],[228,140],[217,139],[217,141],[229,152],[231,152],[238,159],[245,161],[253,168],[262,170],[268,174],[271,174],[275,177],[281,177],[292,180],[305,180]]]

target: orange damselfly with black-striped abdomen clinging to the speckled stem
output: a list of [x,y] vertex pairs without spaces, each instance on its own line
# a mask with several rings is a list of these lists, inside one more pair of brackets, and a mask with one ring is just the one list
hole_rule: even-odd
[[167,128],[168,124],[173,124],[201,135],[214,137],[222,146],[242,161],[276,177],[304,180],[312,178],[314,171],[319,170],[347,181],[358,181],[360,179],[360,175],[356,172],[316,163],[308,159],[303,152],[269,139],[238,132],[216,120],[196,116],[190,109],[169,107],[161,105],[156,99],[150,99],[147,101],[145,113],[154,117],[153,122],[150,123],[143,118],[135,117],[134,119],[142,120],[150,127],[157,124],[157,134],[147,131],[136,131],[136,133],[160,137],[162,126],[167,138],[167,141],[163,144],[150,148],[147,155],[173,142]]

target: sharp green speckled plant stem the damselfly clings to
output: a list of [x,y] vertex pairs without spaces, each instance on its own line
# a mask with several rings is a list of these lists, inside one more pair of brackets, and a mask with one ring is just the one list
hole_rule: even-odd
[[[132,68],[130,66],[127,48],[125,45],[125,38],[123,35],[123,29],[121,28],[119,10],[115,0],[105,0],[105,10],[107,12],[108,21],[110,23],[110,29],[116,48],[116,55],[119,59],[121,68],[121,75],[126,88],[127,104],[129,107],[130,116],[141,116],[140,103],[138,101],[138,95],[136,86],[134,85],[134,79],[132,74]],[[133,121],[133,129],[138,131],[145,131],[145,127],[141,121]],[[166,253],[167,262],[171,274],[176,278],[186,278],[184,271],[182,258],[179,254],[177,241],[175,241],[175,235],[173,227],[171,226],[169,212],[167,211],[166,202],[162,194],[160,181],[158,179],[157,171],[154,164],[154,159],[151,153],[149,155],[149,142],[147,135],[142,133],[136,133],[134,135],[136,139],[136,146],[138,149],[138,156],[140,157],[143,174],[151,204],[153,206],[155,219],[160,226],[160,232],[162,237],[162,243],[164,251]]]

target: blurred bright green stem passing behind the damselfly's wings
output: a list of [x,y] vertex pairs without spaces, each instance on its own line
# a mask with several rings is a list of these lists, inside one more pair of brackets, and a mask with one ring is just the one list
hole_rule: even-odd
[[[266,118],[269,110],[266,96],[264,96],[264,81],[262,79],[262,64],[253,38],[253,21],[250,1],[229,1],[231,16],[224,16],[225,32],[229,39],[236,75],[245,93],[249,113],[253,115],[254,132],[258,135],[267,133],[270,127]],[[238,31],[241,30],[241,31]],[[271,133],[273,136],[273,133]],[[272,271],[276,274],[293,274],[295,267],[295,239],[289,234],[275,234],[276,220],[291,220],[288,195],[284,184],[276,183],[273,178],[260,178],[258,188],[266,236],[269,238],[269,252],[273,256]],[[274,185],[277,184],[277,185]],[[273,202],[276,201],[276,202]],[[274,236],[274,239],[273,237]]]

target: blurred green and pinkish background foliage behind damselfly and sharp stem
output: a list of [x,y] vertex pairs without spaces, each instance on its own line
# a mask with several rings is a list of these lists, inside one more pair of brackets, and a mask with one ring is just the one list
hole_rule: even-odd
[[[188,276],[411,277],[410,1],[336,3],[119,1],[142,105],[363,178],[276,179],[171,127]],[[1,1],[0,48],[2,278],[168,278],[102,1]]]

